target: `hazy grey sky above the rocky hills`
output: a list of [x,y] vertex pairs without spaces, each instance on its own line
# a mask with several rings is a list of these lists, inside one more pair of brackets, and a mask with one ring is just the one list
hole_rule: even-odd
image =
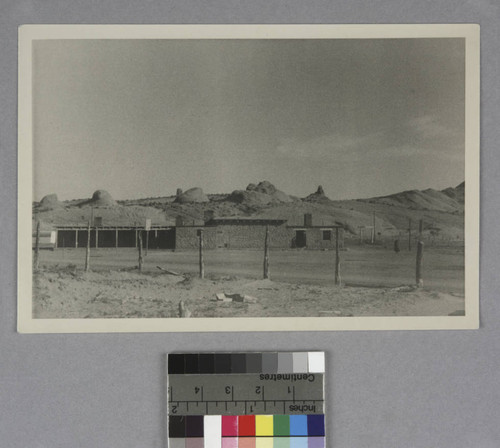
[[464,180],[463,39],[41,40],[34,199]]

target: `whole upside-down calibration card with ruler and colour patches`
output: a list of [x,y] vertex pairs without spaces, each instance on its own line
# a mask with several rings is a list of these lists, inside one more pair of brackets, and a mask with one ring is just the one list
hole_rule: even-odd
[[323,352],[168,356],[170,448],[324,448]]

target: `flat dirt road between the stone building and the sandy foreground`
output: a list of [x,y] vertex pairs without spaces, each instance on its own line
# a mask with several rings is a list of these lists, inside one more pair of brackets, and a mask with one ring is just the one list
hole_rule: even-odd
[[[396,287],[415,282],[415,250],[373,246],[354,246],[342,251],[341,277],[345,285],[363,287]],[[207,275],[262,278],[263,253],[258,250],[205,251]],[[41,265],[82,268],[85,249],[57,249],[41,253]],[[332,251],[271,251],[271,278],[294,284],[333,285],[335,254]],[[94,249],[91,268],[119,270],[137,266],[135,249]],[[197,252],[152,251],[144,257],[144,270],[156,272],[156,266],[181,273],[196,273]],[[463,248],[426,248],[424,253],[424,286],[434,291],[464,292]]]

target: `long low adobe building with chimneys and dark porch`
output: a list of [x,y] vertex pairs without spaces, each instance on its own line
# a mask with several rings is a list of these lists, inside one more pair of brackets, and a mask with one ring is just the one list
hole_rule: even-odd
[[[86,247],[87,226],[55,226],[56,247]],[[286,219],[252,217],[206,217],[205,221],[177,218],[175,225],[144,226],[106,225],[99,219],[90,231],[90,245],[97,248],[137,247],[139,235],[149,249],[195,250],[199,245],[198,232],[203,232],[205,249],[262,249],[266,229],[269,229],[269,247],[272,249],[335,249],[336,238],[343,247],[343,226],[332,223],[313,224],[311,214],[305,214],[303,223],[295,225]]]

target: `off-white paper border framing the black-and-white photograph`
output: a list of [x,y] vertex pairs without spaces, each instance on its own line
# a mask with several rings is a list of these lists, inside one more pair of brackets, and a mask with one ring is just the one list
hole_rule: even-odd
[[[418,25],[23,25],[18,84],[18,318],[20,333],[437,330],[479,328],[480,30]],[[464,38],[465,316],[38,319],[32,317],[32,44],[39,39]]]

